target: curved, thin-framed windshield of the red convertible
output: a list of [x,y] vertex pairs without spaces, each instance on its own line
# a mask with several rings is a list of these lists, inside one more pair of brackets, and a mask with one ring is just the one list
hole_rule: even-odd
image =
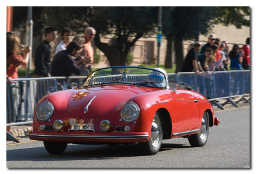
[[90,73],[83,87],[110,83],[166,88],[166,76],[161,71],[150,68],[129,66],[102,68]]

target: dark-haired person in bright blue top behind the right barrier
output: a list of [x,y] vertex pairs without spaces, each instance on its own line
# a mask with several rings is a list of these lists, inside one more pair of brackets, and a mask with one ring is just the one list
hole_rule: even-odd
[[242,70],[242,56],[239,53],[240,48],[237,44],[235,44],[232,50],[229,52],[230,58],[230,70]]

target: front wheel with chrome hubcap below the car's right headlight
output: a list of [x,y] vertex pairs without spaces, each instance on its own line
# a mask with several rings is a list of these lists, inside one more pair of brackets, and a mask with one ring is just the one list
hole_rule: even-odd
[[161,127],[161,119],[159,114],[156,113],[152,122],[150,139],[147,142],[139,143],[140,149],[145,152],[147,155],[156,154],[162,144],[163,140],[163,131]]

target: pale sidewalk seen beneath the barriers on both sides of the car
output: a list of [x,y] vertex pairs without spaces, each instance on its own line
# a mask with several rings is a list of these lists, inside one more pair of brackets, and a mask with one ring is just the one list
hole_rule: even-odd
[[[250,96],[246,96],[246,99],[249,99]],[[241,97],[237,97],[232,99],[234,102],[239,101],[239,99],[241,99]],[[225,103],[226,99],[220,99],[219,100],[219,104],[223,104]],[[244,107],[244,106],[250,106],[250,103],[246,103],[243,101],[240,101],[237,104],[239,107]],[[235,106],[231,105],[230,103],[228,103],[227,105],[224,106],[224,108],[228,109],[228,108],[236,108]],[[220,108],[218,108],[217,106],[214,106],[214,111],[218,111],[221,110]],[[13,135],[19,138],[28,138],[27,133],[29,130],[32,130],[32,124],[26,124],[24,126],[12,126],[12,131],[13,131]]]

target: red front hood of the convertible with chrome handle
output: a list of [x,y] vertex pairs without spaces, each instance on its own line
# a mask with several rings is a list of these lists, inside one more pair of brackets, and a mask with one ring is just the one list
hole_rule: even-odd
[[[133,96],[156,90],[159,89],[132,85],[100,85],[76,89],[68,101],[67,112],[74,117],[97,117],[122,106]],[[86,112],[84,108],[87,108]]]

